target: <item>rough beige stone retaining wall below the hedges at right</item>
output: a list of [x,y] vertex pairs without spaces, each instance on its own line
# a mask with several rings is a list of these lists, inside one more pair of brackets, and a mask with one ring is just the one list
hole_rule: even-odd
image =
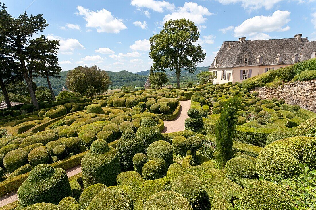
[[285,103],[298,104],[301,108],[316,112],[316,80],[296,81],[278,88],[261,87],[255,90],[262,99],[283,98]]

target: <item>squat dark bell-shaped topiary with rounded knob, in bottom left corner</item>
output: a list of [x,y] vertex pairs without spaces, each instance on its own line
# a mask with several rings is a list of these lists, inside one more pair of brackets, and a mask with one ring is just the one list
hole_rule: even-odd
[[40,164],[29,173],[17,195],[22,208],[41,202],[58,204],[64,197],[71,196],[71,188],[63,169]]

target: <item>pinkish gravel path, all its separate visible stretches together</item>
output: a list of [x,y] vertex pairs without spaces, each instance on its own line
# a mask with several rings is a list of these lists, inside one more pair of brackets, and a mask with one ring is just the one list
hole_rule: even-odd
[[[180,107],[178,117],[172,121],[165,121],[165,129],[162,131],[162,133],[172,133],[176,131],[185,130],[184,121],[186,118],[189,117],[187,112],[191,108],[191,100],[181,101],[180,104],[181,104],[181,107]],[[72,177],[78,173],[81,173],[81,166],[79,165],[79,166],[70,168],[66,172],[67,172],[68,178]],[[17,191],[7,194],[0,198],[0,207],[3,207],[16,200],[18,200]]]

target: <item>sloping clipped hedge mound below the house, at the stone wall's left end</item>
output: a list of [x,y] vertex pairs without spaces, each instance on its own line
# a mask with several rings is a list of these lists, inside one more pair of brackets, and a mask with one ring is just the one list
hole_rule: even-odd
[[243,81],[242,85],[244,89],[253,89],[255,87],[264,87],[266,83],[272,82],[276,77],[275,71],[268,71],[258,76],[251,77]]

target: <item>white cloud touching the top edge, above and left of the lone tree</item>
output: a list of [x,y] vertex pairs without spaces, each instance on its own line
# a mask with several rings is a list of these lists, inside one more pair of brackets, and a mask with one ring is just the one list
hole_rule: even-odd
[[174,4],[171,4],[166,1],[155,1],[155,0],[131,0],[131,5],[136,7],[145,7],[148,9],[152,9],[156,12],[163,12],[164,9],[173,10]]

